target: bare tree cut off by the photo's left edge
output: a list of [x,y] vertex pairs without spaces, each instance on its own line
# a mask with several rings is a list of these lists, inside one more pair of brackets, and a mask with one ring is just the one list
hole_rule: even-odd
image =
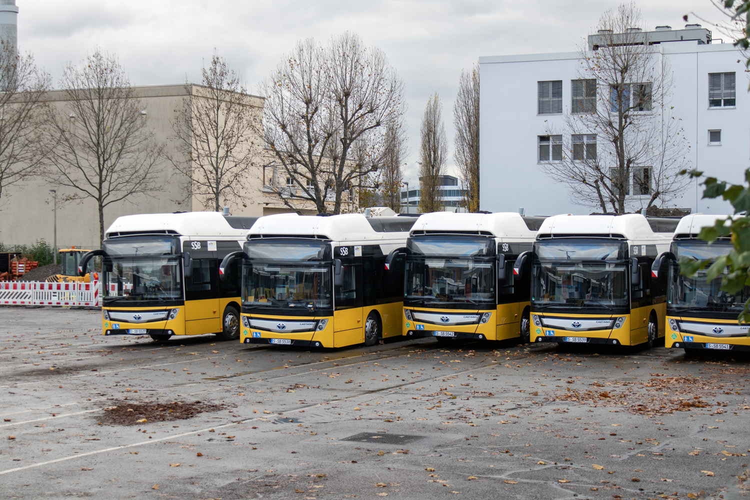
[[0,40],[0,196],[6,187],[38,172],[46,142],[42,128],[48,73],[31,54]]

